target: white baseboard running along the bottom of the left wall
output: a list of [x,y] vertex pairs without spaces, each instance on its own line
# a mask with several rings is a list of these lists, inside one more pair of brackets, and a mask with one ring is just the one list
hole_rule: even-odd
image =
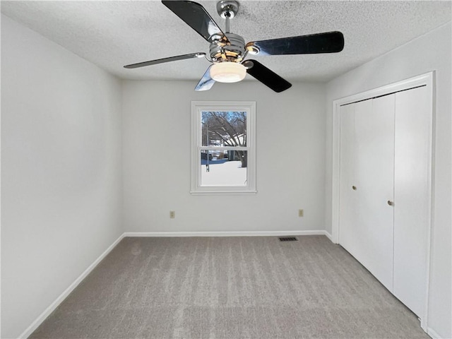
[[80,284],[82,280],[85,279],[88,274],[90,274],[90,272],[97,266],[97,264],[100,263],[100,261],[102,261],[102,259],[105,258],[105,256],[107,256],[110,251],[112,251],[112,249],[114,249],[114,246],[116,246],[122,238],[124,238],[124,233],[121,234],[121,236],[116,239],[116,241],[111,244],[104,251],[104,253],[102,253],[90,266],[88,266],[88,268],[86,268],[86,270],[71,285],[69,285],[69,287],[66,288],[63,293],[61,293],[61,295],[59,295],[59,297],[57,297],[57,299],[55,299],[55,301],[52,302],[52,304],[50,304],[50,306],[47,307],[47,309],[45,309],[45,311],[43,311],[42,314],[40,314],[40,316],[38,316],[37,319],[33,321],[21,335],[19,335],[19,338],[28,338],[28,336],[30,336],[31,333],[33,333],[33,331],[35,331],[36,328],[40,326],[42,321],[44,321],[47,316],[49,316],[55,309],[57,309],[57,307],[59,307],[59,304],[61,304],[61,302],[63,302],[64,299],[66,299],[66,297],[71,294],[71,292],[78,286],[78,284]]

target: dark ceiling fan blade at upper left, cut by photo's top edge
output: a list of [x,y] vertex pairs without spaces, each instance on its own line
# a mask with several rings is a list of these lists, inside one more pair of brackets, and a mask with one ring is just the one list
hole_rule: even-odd
[[201,37],[210,43],[225,46],[230,44],[225,33],[218,27],[206,8],[193,1],[162,0],[174,14],[185,21],[187,25],[196,30]]

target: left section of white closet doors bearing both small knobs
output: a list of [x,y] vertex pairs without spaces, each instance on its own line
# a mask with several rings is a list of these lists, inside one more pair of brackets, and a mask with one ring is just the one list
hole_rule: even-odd
[[394,95],[340,109],[339,243],[393,287]]

